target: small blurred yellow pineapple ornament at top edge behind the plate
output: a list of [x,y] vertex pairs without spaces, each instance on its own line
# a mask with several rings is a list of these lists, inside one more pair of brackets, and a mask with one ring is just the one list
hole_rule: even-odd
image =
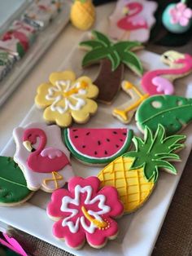
[[72,24],[81,30],[89,29],[95,20],[95,9],[92,0],[74,0],[71,10]]

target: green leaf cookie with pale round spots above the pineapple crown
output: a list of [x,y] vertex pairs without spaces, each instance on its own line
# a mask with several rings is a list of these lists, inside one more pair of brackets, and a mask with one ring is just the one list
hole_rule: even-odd
[[141,130],[148,126],[154,132],[160,123],[167,135],[174,135],[192,121],[192,99],[175,95],[150,97],[137,109],[136,120]]

